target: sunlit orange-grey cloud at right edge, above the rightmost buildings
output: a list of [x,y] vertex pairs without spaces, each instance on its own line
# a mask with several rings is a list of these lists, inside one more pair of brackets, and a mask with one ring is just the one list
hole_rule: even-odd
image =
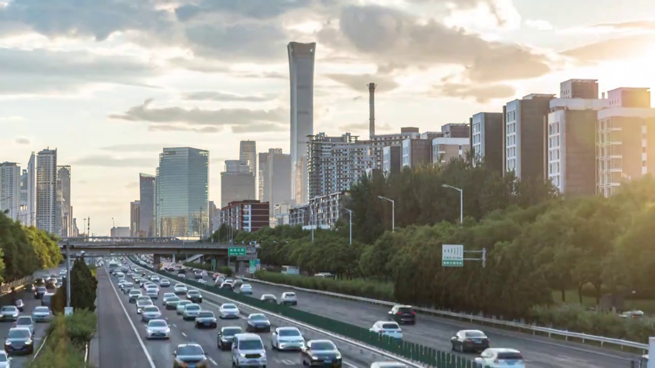
[[583,64],[605,60],[624,60],[643,55],[644,48],[653,43],[655,43],[655,35],[634,35],[571,48],[563,51],[562,54]]

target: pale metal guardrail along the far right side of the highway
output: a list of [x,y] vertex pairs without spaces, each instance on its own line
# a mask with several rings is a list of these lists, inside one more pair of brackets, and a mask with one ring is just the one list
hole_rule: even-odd
[[[380,300],[377,300],[377,299],[370,299],[370,298],[364,298],[364,297],[355,297],[353,295],[333,293],[331,291],[305,289],[303,287],[297,287],[297,286],[286,285],[286,284],[274,284],[272,282],[267,282],[267,281],[263,281],[263,280],[259,280],[259,279],[255,279],[255,278],[246,278],[246,277],[239,277],[239,278],[241,278],[242,280],[246,280],[248,282],[258,282],[260,284],[266,284],[266,285],[271,285],[271,286],[276,286],[276,287],[285,287],[285,288],[288,288],[288,289],[303,291],[305,293],[315,293],[315,294],[320,294],[320,295],[327,295],[329,297],[336,297],[336,298],[339,298],[339,299],[347,299],[347,300],[350,300],[350,301],[357,301],[357,302],[360,302],[360,303],[377,304],[377,305],[383,305],[383,306],[389,306],[389,307],[392,307],[392,306],[398,304],[398,303],[393,303],[393,302],[389,302],[389,301],[380,301]],[[419,312],[421,314],[428,314],[430,316],[445,317],[445,318],[451,318],[451,319],[457,319],[457,320],[466,320],[468,322],[480,323],[480,324],[483,324],[483,325],[484,324],[496,325],[496,326],[504,327],[504,328],[518,329],[519,331],[529,331],[533,335],[537,335],[538,333],[542,333],[542,334],[548,335],[548,337],[552,337],[553,335],[563,337],[567,341],[569,339],[582,340],[583,343],[586,342],[586,341],[593,341],[593,342],[598,342],[601,346],[603,346],[603,344],[609,344],[609,345],[619,346],[621,348],[621,350],[623,350],[623,348],[625,348],[625,347],[630,347],[630,348],[637,348],[637,349],[644,350],[644,352],[648,352],[648,344],[642,344],[640,342],[635,342],[635,341],[629,341],[629,340],[623,340],[623,339],[612,339],[611,337],[588,335],[586,333],[565,331],[565,330],[553,329],[553,328],[550,328],[550,327],[540,327],[538,325],[529,325],[529,324],[526,324],[526,323],[499,320],[497,318],[486,318],[486,317],[476,316],[474,314],[456,313],[456,312],[451,312],[449,310],[438,310],[438,309],[422,308],[422,307],[414,307],[414,310],[416,310],[417,312]]]

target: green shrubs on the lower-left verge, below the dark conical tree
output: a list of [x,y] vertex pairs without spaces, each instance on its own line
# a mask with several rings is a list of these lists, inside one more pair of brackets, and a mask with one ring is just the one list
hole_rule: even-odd
[[67,317],[56,314],[48,326],[45,345],[27,368],[92,368],[84,363],[84,348],[95,335],[96,325],[96,315],[88,310]]

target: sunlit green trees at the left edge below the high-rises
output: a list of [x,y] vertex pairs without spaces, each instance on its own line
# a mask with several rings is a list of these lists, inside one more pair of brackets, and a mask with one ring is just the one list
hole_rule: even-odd
[[0,281],[10,282],[62,261],[57,238],[35,227],[26,227],[0,212]]

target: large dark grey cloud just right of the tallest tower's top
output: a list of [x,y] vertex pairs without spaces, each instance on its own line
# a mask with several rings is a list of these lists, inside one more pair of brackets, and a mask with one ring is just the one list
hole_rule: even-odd
[[375,5],[345,7],[339,31],[324,29],[318,41],[350,48],[383,69],[462,65],[464,76],[477,83],[540,77],[551,70],[546,56],[526,46],[486,41],[434,19],[421,22],[406,12]]

